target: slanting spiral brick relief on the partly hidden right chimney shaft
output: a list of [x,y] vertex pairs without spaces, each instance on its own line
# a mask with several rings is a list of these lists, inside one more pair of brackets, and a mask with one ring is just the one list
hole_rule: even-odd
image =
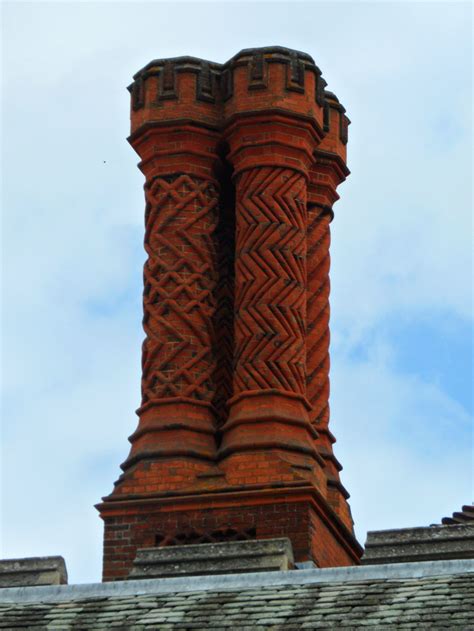
[[316,429],[329,422],[329,246],[330,215],[318,206],[308,208],[308,294],[306,396]]

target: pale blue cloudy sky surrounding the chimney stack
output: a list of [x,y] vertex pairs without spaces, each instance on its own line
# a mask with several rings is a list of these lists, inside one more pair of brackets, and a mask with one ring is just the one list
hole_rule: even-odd
[[101,576],[94,508],[140,403],[144,198],[132,75],[309,53],[347,109],[334,207],[331,428],[356,534],[473,500],[472,5],[2,4],[0,557]]

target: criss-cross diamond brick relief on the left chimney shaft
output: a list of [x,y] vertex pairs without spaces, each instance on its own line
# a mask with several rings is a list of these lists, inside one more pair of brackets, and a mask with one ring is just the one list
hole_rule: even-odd
[[142,405],[212,401],[218,190],[211,181],[157,177],[146,188]]

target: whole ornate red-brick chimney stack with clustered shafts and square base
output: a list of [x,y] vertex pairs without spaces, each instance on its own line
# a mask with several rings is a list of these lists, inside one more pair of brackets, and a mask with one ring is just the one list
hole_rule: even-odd
[[329,224],[348,119],[309,55],[155,60],[130,86],[145,175],[142,403],[98,510],[104,580],[136,550],[290,538],[352,565],[329,429]]

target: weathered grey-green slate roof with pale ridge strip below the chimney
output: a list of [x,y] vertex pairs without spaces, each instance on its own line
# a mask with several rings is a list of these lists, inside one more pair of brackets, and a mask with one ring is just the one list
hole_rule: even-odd
[[474,630],[474,561],[0,591],[0,629]]

